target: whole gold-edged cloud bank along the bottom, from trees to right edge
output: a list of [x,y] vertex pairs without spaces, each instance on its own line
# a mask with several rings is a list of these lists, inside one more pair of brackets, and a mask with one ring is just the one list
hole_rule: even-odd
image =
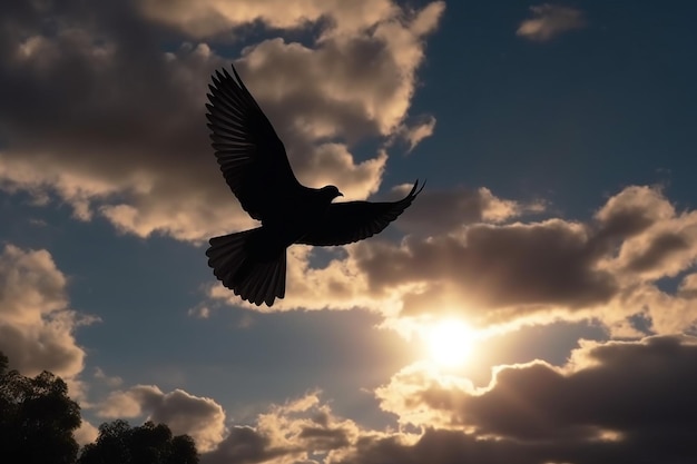
[[668,335],[581,342],[563,366],[497,366],[479,388],[414,364],[375,392],[397,431],[342,418],[315,392],[232,425],[202,463],[689,462],[696,362],[697,338]]

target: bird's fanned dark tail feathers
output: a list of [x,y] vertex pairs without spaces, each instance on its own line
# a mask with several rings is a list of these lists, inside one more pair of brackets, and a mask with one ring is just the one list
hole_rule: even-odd
[[[259,306],[285,296],[285,248],[274,259],[255,253],[262,228],[214,237],[206,250],[208,266],[235,295]],[[264,255],[264,254],[262,254]]]

